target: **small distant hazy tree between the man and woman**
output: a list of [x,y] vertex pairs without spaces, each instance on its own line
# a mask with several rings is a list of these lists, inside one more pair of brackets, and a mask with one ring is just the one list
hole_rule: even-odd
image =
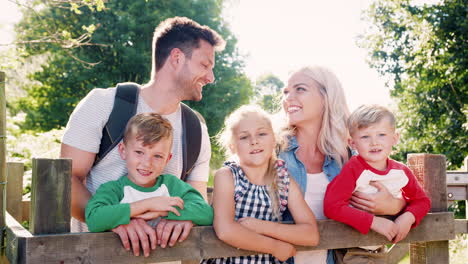
[[257,78],[255,82],[255,94],[257,103],[270,113],[275,113],[281,108],[281,88],[284,83],[274,74],[267,73]]

